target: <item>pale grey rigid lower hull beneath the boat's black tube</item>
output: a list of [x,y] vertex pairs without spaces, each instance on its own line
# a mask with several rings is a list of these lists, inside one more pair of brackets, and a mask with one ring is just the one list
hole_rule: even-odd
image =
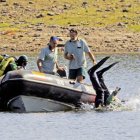
[[20,95],[11,99],[7,103],[8,108],[13,112],[57,112],[69,111],[74,109],[74,106],[64,104],[62,102],[51,99],[39,98],[34,96]]

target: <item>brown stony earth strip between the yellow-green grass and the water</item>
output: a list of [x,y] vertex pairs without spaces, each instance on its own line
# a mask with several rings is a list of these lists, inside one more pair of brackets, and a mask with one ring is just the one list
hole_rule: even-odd
[[[49,41],[50,36],[59,36],[63,41],[69,39],[69,29],[73,27],[30,26],[26,32],[0,32],[0,52],[38,52]],[[140,33],[127,32],[123,27],[106,28],[74,27],[79,37],[85,39],[93,52],[97,53],[134,53],[140,52]]]

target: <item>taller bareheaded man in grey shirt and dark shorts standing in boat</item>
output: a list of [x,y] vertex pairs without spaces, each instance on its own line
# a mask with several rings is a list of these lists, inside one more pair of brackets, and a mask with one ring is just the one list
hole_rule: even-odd
[[85,53],[89,55],[93,64],[96,64],[87,42],[78,38],[76,29],[70,29],[70,40],[65,43],[64,57],[69,60],[69,79],[77,80],[78,83],[81,83],[85,78]]

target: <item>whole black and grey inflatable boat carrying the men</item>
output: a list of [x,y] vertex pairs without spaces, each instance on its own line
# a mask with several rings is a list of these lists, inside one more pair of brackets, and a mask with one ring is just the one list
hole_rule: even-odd
[[91,85],[30,70],[10,71],[0,77],[0,110],[42,112],[71,110],[79,103],[94,103]]

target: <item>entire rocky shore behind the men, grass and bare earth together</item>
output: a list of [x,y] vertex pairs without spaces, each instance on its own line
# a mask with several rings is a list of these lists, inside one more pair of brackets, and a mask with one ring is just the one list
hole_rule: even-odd
[[139,54],[139,2],[111,3],[87,2],[89,11],[84,11],[81,1],[0,3],[0,53],[39,53],[51,36],[62,38],[64,44],[69,30],[76,28],[94,54]]

